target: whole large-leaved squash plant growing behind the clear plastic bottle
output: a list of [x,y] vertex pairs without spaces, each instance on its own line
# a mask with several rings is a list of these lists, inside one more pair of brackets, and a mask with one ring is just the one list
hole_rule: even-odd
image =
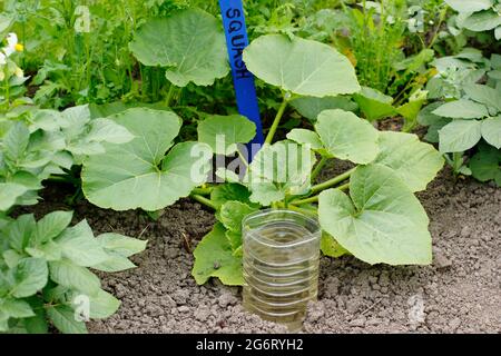
[[[207,40],[200,42],[202,32]],[[199,10],[145,23],[130,49],[143,63],[164,67],[171,88],[207,86],[227,72],[226,58],[220,57],[224,34],[217,21]],[[198,141],[174,144],[181,127],[175,112],[129,109],[107,119],[135,138],[105,142],[104,152],[84,161],[86,197],[116,210],[155,211],[188,196],[213,208],[218,222],[194,251],[193,275],[199,284],[209,277],[242,284],[242,219],[266,207],[318,216],[326,255],[352,254],[371,264],[429,264],[429,220],[414,192],[441,169],[441,155],[414,135],[379,132],[345,111],[354,106],[345,96],[361,87],[348,59],[331,46],[263,36],[245,49],[244,61],[282,92],[265,146],[250,164],[242,144],[253,138],[255,127],[242,116],[208,115],[198,126]],[[312,113],[314,130],[296,128],[275,142],[289,103]],[[216,159],[213,166],[214,154],[223,164],[228,157],[237,159],[226,167]],[[355,166],[313,184],[333,159]],[[210,170],[224,184],[207,184]]]

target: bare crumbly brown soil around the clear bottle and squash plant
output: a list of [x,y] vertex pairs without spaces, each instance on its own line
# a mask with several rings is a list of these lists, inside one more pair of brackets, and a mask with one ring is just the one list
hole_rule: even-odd
[[[431,217],[434,259],[426,267],[369,266],[351,257],[321,260],[318,303],[307,333],[501,332],[501,189],[442,172],[419,195]],[[57,188],[59,194],[55,194]],[[37,214],[65,208],[61,187],[47,189]],[[188,200],[158,221],[140,211],[115,212],[82,202],[75,220],[97,231],[115,230],[149,240],[134,257],[138,268],[102,275],[104,288],[122,305],[91,333],[284,332],[242,309],[240,288],[216,280],[197,286],[193,249],[210,230],[210,211]]]

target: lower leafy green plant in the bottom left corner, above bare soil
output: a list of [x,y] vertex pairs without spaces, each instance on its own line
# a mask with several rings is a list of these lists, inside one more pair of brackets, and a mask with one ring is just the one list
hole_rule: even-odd
[[86,220],[68,227],[71,211],[0,219],[0,333],[87,333],[85,322],[107,318],[120,301],[101,289],[101,271],[135,267],[129,256],[146,241],[102,234]]

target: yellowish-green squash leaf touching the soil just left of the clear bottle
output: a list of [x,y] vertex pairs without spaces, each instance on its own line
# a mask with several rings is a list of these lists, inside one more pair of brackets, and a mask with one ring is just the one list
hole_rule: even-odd
[[217,277],[229,286],[240,286],[244,283],[242,258],[233,255],[225,233],[224,226],[217,222],[193,253],[195,265],[191,275],[197,284],[203,285],[210,277]]

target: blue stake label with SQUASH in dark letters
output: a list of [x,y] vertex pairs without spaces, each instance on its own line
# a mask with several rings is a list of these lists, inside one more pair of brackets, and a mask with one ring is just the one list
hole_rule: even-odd
[[242,59],[242,53],[245,47],[248,46],[244,8],[242,0],[219,0],[219,7],[225,28],[238,112],[256,125],[256,136],[248,146],[250,156],[254,156],[256,150],[252,148],[263,145],[264,137],[254,76],[247,70]]

